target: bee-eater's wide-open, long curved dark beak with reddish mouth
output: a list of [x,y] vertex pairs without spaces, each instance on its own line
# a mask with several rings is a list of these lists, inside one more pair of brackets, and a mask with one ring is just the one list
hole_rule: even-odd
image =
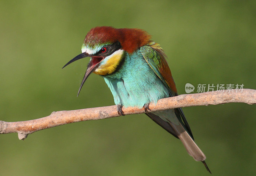
[[[69,65],[70,63],[72,62],[75,62],[79,59],[82,59],[84,57],[92,57],[90,62],[88,63],[88,67],[86,69],[86,72],[84,74],[84,78],[83,78],[83,81],[80,85],[80,88],[78,90],[78,93],[77,93],[77,97],[79,95],[79,92],[80,90],[82,89],[83,85],[84,85],[84,82],[86,81],[87,77],[99,66],[99,63],[103,60],[103,57],[97,57],[97,56],[94,56],[94,55],[89,55],[87,54],[86,52],[84,53],[81,53],[80,55],[77,55],[76,57],[74,57],[73,59],[71,59],[66,65],[64,65],[64,67],[66,67],[67,65]],[[62,69],[64,68],[62,67]]]

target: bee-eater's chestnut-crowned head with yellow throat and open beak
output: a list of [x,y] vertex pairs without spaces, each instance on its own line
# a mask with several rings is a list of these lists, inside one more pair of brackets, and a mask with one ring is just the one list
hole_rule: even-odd
[[91,57],[78,94],[92,72],[103,76],[114,73],[121,64],[124,52],[132,54],[136,49],[146,45],[150,38],[146,31],[137,28],[116,29],[108,26],[92,28],[85,36],[82,53],[64,65],[66,67],[76,60]]

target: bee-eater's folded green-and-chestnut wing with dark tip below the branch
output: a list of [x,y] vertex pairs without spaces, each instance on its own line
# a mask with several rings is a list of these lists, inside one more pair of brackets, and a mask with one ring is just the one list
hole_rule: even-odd
[[[164,54],[164,50],[161,48],[161,46],[154,41],[150,41],[147,45],[140,47],[140,53],[143,55],[148,65],[152,68],[152,70],[154,70],[154,72],[161,79],[164,85],[169,89],[170,97],[177,96],[178,92],[176,89],[176,85],[172,78],[171,70],[166,61],[167,57]],[[194,139],[182,109],[175,109],[175,114],[179,119],[180,123],[183,124],[184,127],[187,129],[188,134],[191,136],[191,138]],[[160,126],[163,127],[163,125]]]

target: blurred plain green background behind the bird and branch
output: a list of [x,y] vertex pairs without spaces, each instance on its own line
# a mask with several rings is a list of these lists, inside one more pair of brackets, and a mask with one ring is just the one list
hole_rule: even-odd
[[[255,1],[1,1],[0,120],[114,105],[89,59],[64,70],[95,26],[141,28],[164,48],[179,94],[185,84],[256,89]],[[255,105],[183,108],[213,175],[255,175]],[[0,135],[1,175],[209,175],[146,115]]]

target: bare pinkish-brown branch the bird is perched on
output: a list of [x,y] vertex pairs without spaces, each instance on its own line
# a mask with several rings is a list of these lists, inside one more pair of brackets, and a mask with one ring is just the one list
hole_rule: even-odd
[[[230,91],[230,92],[228,92]],[[247,103],[256,104],[256,90],[243,89],[242,91],[225,90],[224,92],[213,91],[195,94],[183,94],[176,97],[160,99],[157,105],[150,104],[150,112],[161,111],[171,108],[188,106],[207,106],[224,103]],[[144,109],[136,107],[123,108],[124,114],[142,114]],[[19,139],[24,140],[28,134],[36,131],[52,128],[59,125],[79,121],[98,120],[120,116],[116,106],[94,107],[71,111],[52,112],[51,115],[30,121],[5,122],[0,121],[0,134],[18,133]]]

